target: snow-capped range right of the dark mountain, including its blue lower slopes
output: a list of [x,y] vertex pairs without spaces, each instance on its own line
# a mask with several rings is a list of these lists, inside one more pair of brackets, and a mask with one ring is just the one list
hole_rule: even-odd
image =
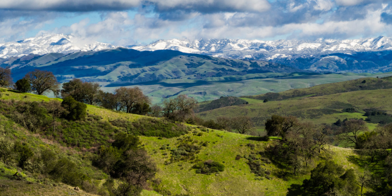
[[[380,62],[379,59],[379,56],[390,54],[385,51],[392,51],[392,38],[385,36],[355,40],[317,39],[314,41],[244,39],[190,41],[173,39],[158,40],[146,46],[134,46],[132,49],[140,51],[171,49],[223,58],[265,60],[311,71],[392,71],[390,61]],[[372,70],[371,64],[383,68]],[[363,67],[367,67],[367,69],[364,70]]]

